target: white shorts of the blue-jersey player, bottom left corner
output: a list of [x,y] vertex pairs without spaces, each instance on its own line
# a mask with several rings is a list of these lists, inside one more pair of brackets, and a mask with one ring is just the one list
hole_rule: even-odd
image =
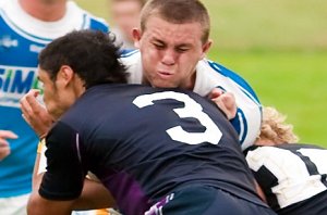
[[29,194],[11,198],[0,198],[1,215],[26,215],[26,206]]

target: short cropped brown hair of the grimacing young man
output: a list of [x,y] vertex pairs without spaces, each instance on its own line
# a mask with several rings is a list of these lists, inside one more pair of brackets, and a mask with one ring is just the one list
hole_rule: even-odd
[[167,22],[183,24],[197,22],[203,28],[202,42],[209,39],[210,18],[207,9],[198,0],[149,0],[141,13],[141,29],[152,15],[158,15]]

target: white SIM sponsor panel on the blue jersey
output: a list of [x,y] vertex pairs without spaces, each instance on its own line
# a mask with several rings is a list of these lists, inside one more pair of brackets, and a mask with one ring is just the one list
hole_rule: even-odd
[[20,99],[32,88],[41,88],[35,68],[0,65],[0,105],[19,108]]

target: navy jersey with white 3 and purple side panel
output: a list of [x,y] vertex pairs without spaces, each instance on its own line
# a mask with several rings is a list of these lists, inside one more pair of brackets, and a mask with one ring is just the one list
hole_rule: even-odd
[[89,170],[124,214],[144,213],[192,184],[263,204],[233,127],[193,92],[93,87],[53,126],[47,148],[46,199],[77,198]]

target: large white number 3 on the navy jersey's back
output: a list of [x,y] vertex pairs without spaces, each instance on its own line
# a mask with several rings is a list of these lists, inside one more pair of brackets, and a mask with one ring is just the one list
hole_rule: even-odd
[[206,129],[204,132],[189,132],[181,126],[175,126],[166,130],[171,139],[187,144],[199,144],[209,142],[218,144],[221,139],[221,131],[211,118],[203,112],[202,106],[191,99],[187,94],[172,91],[155,92],[152,94],[138,96],[133,103],[140,109],[153,105],[154,101],[173,99],[184,103],[184,108],[173,109],[180,118],[193,117],[196,118]]

